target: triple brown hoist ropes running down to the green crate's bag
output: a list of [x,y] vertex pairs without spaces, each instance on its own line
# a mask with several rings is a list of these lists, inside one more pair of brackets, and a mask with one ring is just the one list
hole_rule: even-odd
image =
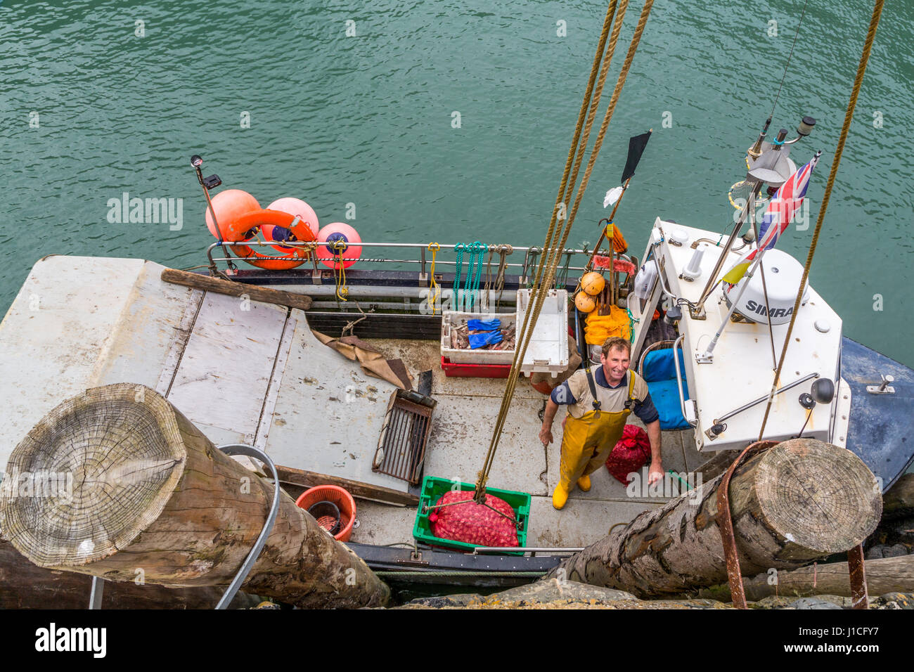
[[[581,111],[587,106],[587,100],[590,97],[590,88],[591,82],[594,77],[595,69],[600,61],[600,53],[602,52],[602,45],[605,42],[605,35],[609,28],[609,24],[612,21],[612,15],[615,10],[616,2],[612,0],[608,10],[607,16],[603,25],[603,33],[600,36],[600,48],[598,49],[597,55],[594,59],[593,69],[590,72],[590,81],[588,82],[588,92],[585,94],[584,102],[581,105]],[[610,59],[613,52],[615,51],[616,43],[619,39],[619,32],[622,28],[622,17],[625,13],[625,8],[628,6],[628,0],[621,0],[621,12],[619,16],[616,17],[616,20],[612,27],[612,35],[610,38],[610,46],[607,50],[607,59],[603,60],[603,67],[600,69],[600,80],[597,84],[597,91],[594,92],[593,101],[590,104],[590,113],[588,114],[586,127],[584,132],[580,131],[580,116],[578,128],[575,131],[575,137],[581,138],[580,146],[580,155],[575,160],[575,170],[574,178],[571,180],[571,186],[575,184],[578,168],[580,166],[581,160],[583,159],[583,151],[587,146],[587,137],[590,135],[590,128],[593,123],[593,118],[596,114],[596,108],[599,105],[600,92],[602,91],[603,83],[606,80],[606,73],[609,69]],[[569,151],[569,159],[566,162],[565,173],[562,176],[561,185],[559,186],[558,197],[556,199],[556,207],[553,210],[552,218],[550,219],[549,229],[547,231],[546,243],[543,246],[543,256],[540,258],[539,266],[537,268],[537,278],[534,281],[533,289],[531,290],[530,301],[532,304],[532,310],[528,310],[524,317],[524,325],[517,332],[517,347],[515,347],[515,357],[511,365],[511,371],[508,374],[507,385],[505,387],[505,394],[502,397],[501,409],[498,412],[498,417],[495,421],[495,427],[492,434],[492,440],[489,443],[489,450],[486,453],[485,462],[483,469],[480,470],[478,474],[478,480],[476,483],[476,498],[479,501],[480,497],[484,497],[485,491],[485,482],[488,480],[488,475],[492,469],[492,463],[494,461],[495,449],[498,446],[498,441],[501,438],[502,431],[505,426],[505,418],[507,416],[508,408],[510,407],[511,400],[514,397],[515,388],[517,385],[517,379],[520,373],[520,363],[524,361],[526,355],[526,348],[529,345],[530,337],[533,332],[533,325],[537,324],[537,319],[539,318],[540,310],[542,309],[543,302],[548,293],[548,288],[551,286],[553,278],[555,277],[556,269],[558,267],[558,261],[562,251],[565,250],[565,245],[568,242],[569,233],[571,232],[571,226],[574,224],[574,218],[577,214],[581,197],[583,197],[584,189],[587,187],[587,183],[590,180],[590,172],[593,169],[593,165],[596,162],[597,155],[600,153],[600,146],[603,143],[603,137],[606,134],[606,127],[609,125],[610,119],[612,118],[612,113],[615,112],[616,104],[619,101],[619,94],[622,91],[622,86],[625,83],[625,79],[628,76],[629,69],[632,66],[632,59],[634,54],[637,51],[638,44],[641,41],[641,36],[643,34],[644,26],[647,23],[648,16],[651,13],[651,7],[654,5],[654,0],[645,0],[644,6],[642,9],[641,16],[638,21],[637,27],[635,27],[634,34],[632,35],[632,43],[629,46],[628,54],[626,55],[625,62],[622,64],[622,70],[619,73],[619,77],[616,80],[616,87],[612,92],[612,98],[609,104],[609,107],[606,110],[606,113],[603,117],[603,123],[600,125],[600,133],[597,135],[597,140],[594,143],[593,149],[590,151],[590,159],[588,160],[587,168],[584,171],[584,176],[581,180],[581,184],[578,190],[578,195],[575,199],[574,208],[572,208],[569,218],[566,220],[566,223],[563,226],[561,241],[558,244],[554,244],[553,236],[556,234],[555,225],[558,218],[558,208],[560,204],[564,204],[564,197],[566,196],[566,187],[568,186],[568,174],[569,174],[569,164],[571,163],[572,156],[575,155],[575,147],[577,144],[572,142],[571,149]],[[548,251],[548,262],[547,261],[547,251]],[[545,277],[544,277],[545,271]]]

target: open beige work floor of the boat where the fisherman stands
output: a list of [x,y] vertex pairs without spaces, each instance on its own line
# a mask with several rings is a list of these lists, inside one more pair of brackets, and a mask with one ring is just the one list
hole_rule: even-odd
[[[400,357],[413,374],[432,371],[431,396],[438,405],[432,415],[425,474],[473,483],[488,449],[505,380],[446,377],[437,342],[374,339],[371,343],[387,357]],[[562,411],[553,425],[556,441],[544,448],[538,438],[542,421],[537,414],[545,399],[526,379],[518,383],[489,475],[493,487],[533,496],[527,545],[586,546],[604,537],[615,523],[627,523],[645,509],[668,500],[664,496],[628,496],[624,485],[600,469],[591,476],[590,492],[576,489],[564,509],[554,509],[551,495],[558,482]],[[630,418],[632,424],[643,426],[634,415]],[[663,432],[662,450],[664,469],[677,473],[695,470],[708,457],[696,451],[692,430]],[[412,543],[413,508],[362,501],[357,507],[360,525],[353,541]]]

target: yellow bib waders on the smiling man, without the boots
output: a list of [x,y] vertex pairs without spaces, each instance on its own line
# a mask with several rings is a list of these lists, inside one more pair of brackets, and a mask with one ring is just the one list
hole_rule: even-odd
[[[591,384],[591,394],[596,400],[596,389]],[[618,412],[600,411],[595,408],[580,418],[570,415],[562,433],[559,486],[570,493],[581,476],[597,471],[610,456],[612,448],[622,438],[625,419],[632,412],[634,376],[629,375],[628,400],[625,409]]]

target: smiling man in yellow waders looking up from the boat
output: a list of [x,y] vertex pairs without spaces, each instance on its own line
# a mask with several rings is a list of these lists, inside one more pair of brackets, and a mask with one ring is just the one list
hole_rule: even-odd
[[660,415],[647,390],[647,383],[631,364],[631,344],[624,338],[608,338],[600,354],[600,368],[579,369],[552,390],[543,416],[539,440],[552,443],[552,421],[559,404],[567,404],[568,417],[562,421],[559,481],[552,493],[552,506],[562,508],[577,483],[590,490],[590,474],[606,463],[613,446],[622,438],[622,428],[634,411],[651,441],[651,468],[648,483],[664,477],[660,459]]

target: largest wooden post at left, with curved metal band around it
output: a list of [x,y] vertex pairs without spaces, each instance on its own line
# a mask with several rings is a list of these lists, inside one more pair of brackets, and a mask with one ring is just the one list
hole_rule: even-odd
[[[35,496],[48,477],[69,492],[44,487]],[[272,494],[271,483],[218,451],[153,389],[120,383],[64,401],[16,446],[0,484],[0,528],[40,567],[224,585],[260,535]],[[242,589],[306,607],[382,605],[389,597],[387,585],[285,493]]]

